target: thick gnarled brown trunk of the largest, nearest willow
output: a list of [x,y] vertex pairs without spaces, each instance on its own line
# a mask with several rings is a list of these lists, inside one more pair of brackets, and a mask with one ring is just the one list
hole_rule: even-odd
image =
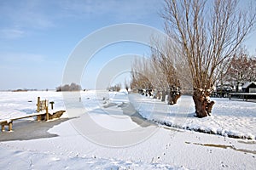
[[195,102],[195,114],[198,117],[211,116],[214,101],[210,100],[210,89],[194,89],[193,99]]

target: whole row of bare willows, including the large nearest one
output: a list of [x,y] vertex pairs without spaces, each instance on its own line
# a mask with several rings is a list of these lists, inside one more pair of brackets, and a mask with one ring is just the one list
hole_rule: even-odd
[[189,81],[196,116],[210,115],[213,85],[223,77],[227,64],[255,24],[255,9],[241,10],[238,3],[165,0],[161,17],[170,40],[155,43],[149,61],[133,65],[131,85],[170,88]]

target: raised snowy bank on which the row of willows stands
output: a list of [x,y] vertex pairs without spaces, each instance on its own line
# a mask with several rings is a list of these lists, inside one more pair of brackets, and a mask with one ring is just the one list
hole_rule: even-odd
[[140,94],[130,94],[129,99],[144,118],[160,125],[237,139],[256,136],[256,103],[253,102],[215,98],[212,116],[197,118],[190,96],[182,96],[177,105],[166,105]]

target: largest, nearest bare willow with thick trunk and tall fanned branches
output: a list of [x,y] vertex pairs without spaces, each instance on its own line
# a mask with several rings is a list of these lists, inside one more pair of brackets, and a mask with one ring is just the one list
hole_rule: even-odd
[[255,23],[255,10],[242,12],[237,3],[236,0],[215,0],[213,4],[204,0],[165,1],[162,17],[166,32],[183,48],[193,79],[198,117],[211,114],[214,102],[209,96],[222,64],[233,56]]

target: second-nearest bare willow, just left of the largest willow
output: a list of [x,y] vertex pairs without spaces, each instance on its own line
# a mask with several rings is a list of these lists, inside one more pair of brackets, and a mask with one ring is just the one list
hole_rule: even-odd
[[155,77],[160,82],[159,86],[163,96],[162,101],[168,95],[168,105],[177,103],[177,99],[181,96],[181,87],[177,69],[176,69],[176,48],[171,39],[166,42],[160,42],[154,39],[153,47],[151,48],[151,62],[154,64],[154,71],[157,71]]

